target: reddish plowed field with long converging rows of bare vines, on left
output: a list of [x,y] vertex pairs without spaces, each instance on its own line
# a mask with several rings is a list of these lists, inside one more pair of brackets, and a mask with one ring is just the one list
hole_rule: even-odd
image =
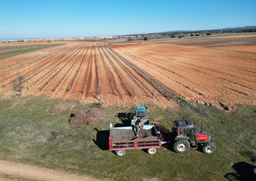
[[103,101],[104,105],[176,106],[168,87],[102,43],[74,43],[26,53],[4,59],[0,70],[2,94],[13,94],[22,87],[23,95]]

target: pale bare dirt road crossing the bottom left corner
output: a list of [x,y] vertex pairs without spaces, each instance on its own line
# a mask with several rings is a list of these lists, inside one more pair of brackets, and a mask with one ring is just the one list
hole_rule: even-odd
[[9,180],[49,180],[49,181],[99,181],[86,175],[71,174],[53,169],[31,166],[29,164],[14,163],[0,160],[0,181]]

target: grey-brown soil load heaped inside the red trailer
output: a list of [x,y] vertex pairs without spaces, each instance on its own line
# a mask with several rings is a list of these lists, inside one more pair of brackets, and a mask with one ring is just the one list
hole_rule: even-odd
[[157,140],[157,134],[153,129],[140,130],[138,138],[132,129],[111,129],[110,136],[113,142]]

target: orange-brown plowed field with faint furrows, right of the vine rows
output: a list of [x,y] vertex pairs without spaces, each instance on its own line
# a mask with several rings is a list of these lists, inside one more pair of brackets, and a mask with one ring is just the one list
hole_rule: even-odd
[[256,105],[256,54],[188,45],[113,45],[116,52],[191,101],[234,109]]

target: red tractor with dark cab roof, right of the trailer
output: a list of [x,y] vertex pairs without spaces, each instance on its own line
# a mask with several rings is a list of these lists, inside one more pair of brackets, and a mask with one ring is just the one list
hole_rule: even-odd
[[173,131],[175,133],[174,150],[177,153],[186,153],[190,147],[198,149],[198,145],[203,146],[204,153],[214,153],[216,151],[215,139],[211,138],[210,134],[201,130],[195,129],[192,120],[175,120]]

